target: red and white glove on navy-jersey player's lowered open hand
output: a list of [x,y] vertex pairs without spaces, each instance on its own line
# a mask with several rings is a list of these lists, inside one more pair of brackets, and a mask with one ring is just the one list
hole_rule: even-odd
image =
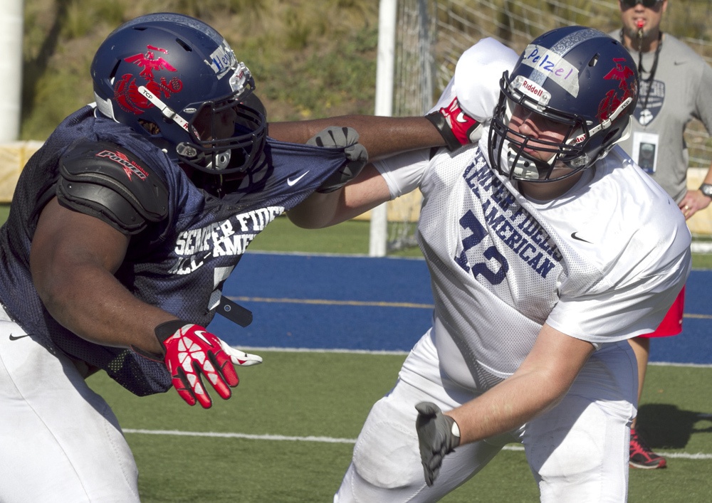
[[221,398],[227,400],[240,382],[235,365],[262,363],[261,356],[245,353],[229,346],[200,325],[174,320],[155,329],[165,349],[164,361],[178,394],[194,406],[210,408],[212,401],[201,381],[202,374]]

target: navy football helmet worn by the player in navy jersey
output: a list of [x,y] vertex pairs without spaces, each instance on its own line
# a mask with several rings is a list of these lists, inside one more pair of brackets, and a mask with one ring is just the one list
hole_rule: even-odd
[[100,114],[174,161],[221,175],[265,161],[267,122],[250,70],[198,19],[160,13],[124,23],[98,48],[91,75]]

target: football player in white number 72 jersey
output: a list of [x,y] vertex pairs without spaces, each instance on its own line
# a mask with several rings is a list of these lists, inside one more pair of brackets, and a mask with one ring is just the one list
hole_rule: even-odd
[[627,499],[627,339],[658,326],[690,270],[684,216],[616,147],[637,95],[634,61],[600,31],[557,28],[518,58],[483,40],[429,116],[475,119],[478,142],[382,159],[288,213],[318,228],[424,195],[433,326],[370,411],[335,502],[435,501],[512,442],[542,501]]

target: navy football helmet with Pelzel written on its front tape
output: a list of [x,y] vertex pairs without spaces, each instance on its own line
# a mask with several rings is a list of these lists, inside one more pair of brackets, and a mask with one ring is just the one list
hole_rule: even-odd
[[[500,81],[490,134],[493,168],[511,179],[557,181],[592,166],[630,132],[638,73],[622,43],[601,31],[567,26],[535,38]],[[509,127],[515,107],[565,125],[561,142]],[[531,143],[535,142],[535,146]],[[548,162],[527,149],[553,153]],[[565,174],[555,166],[566,166]]]

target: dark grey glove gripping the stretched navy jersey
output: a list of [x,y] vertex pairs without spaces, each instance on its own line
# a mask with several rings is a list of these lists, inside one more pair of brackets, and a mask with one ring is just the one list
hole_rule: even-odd
[[333,192],[341,189],[349,181],[355,179],[361,172],[363,166],[368,162],[366,147],[358,142],[358,133],[351,127],[331,126],[318,132],[311,137],[308,145],[317,147],[340,148],[346,147],[347,162],[337,171],[334,171],[328,179],[317,189],[317,192]]

